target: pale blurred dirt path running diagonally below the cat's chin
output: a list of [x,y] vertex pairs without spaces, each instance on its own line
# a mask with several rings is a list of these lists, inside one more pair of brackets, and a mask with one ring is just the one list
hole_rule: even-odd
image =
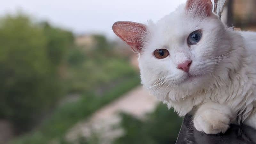
[[88,121],[76,124],[67,134],[67,140],[75,141],[78,136],[88,137],[97,134],[101,144],[109,144],[123,134],[123,130],[113,127],[121,118],[119,112],[126,112],[143,118],[155,109],[158,100],[139,86],[122,97],[95,112]]

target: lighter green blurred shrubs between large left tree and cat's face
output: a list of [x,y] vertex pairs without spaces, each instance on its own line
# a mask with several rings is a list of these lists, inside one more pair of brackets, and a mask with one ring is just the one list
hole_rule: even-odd
[[112,48],[114,46],[104,36],[92,37],[96,47],[86,51],[78,47],[69,51],[67,73],[69,92],[91,91],[95,88],[107,89],[118,81],[138,76],[138,72],[129,62],[115,53]]

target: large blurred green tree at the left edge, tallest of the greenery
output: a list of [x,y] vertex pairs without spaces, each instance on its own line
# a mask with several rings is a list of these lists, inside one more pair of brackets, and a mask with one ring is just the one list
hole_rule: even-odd
[[62,95],[58,68],[73,44],[70,32],[23,15],[0,18],[0,118],[28,130]]

